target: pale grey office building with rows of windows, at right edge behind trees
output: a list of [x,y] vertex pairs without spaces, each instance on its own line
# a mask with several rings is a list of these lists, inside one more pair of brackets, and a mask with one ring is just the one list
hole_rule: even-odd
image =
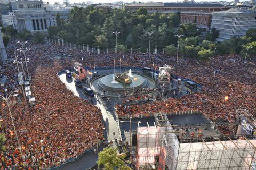
[[213,12],[211,27],[219,30],[217,41],[244,36],[250,28],[256,28],[256,11],[236,8]]

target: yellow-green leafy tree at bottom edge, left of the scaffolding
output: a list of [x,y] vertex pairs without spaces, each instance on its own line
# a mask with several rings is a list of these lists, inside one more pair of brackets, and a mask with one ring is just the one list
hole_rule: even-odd
[[124,158],[126,154],[117,154],[116,149],[111,147],[104,148],[103,151],[99,153],[98,165],[104,165],[106,170],[113,170],[115,168],[122,167],[124,165]]

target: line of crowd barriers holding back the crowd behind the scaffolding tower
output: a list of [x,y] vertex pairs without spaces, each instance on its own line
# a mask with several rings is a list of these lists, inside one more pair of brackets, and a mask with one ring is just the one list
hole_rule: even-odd
[[[179,111],[179,112],[166,112],[166,115],[188,115],[188,114],[201,114],[198,110],[195,111]],[[147,118],[147,117],[154,117],[155,113],[148,113],[148,114],[126,114],[126,115],[118,115],[119,119],[129,119],[132,118]]]

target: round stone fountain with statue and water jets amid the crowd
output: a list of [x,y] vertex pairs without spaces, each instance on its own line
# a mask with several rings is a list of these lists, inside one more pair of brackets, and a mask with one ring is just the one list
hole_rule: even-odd
[[132,93],[134,90],[141,88],[154,88],[156,82],[150,75],[143,74],[140,71],[132,72],[115,72],[101,75],[90,83],[91,88],[98,94],[102,90],[107,91],[108,97],[119,97],[124,91]]

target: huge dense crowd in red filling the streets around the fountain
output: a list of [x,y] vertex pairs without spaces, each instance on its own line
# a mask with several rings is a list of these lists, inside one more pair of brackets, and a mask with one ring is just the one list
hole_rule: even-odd
[[[9,61],[0,64],[0,79],[7,75],[9,82],[0,88],[0,94],[19,89],[17,81],[17,65],[13,63],[14,52],[19,48],[11,39],[7,54]],[[32,74],[31,91],[35,96],[36,105],[25,105],[15,97],[10,99],[10,107],[14,123],[21,144],[18,143],[13,131],[8,108],[0,106],[1,119],[3,119],[1,132],[6,134],[6,152],[1,152],[2,168],[11,169],[43,169],[46,166],[58,166],[71,157],[76,157],[85,149],[95,145],[95,134],[91,127],[103,139],[103,123],[100,110],[85,100],[79,99],[69,91],[59,80],[56,73],[64,68],[73,66],[74,62],[83,64],[83,67],[113,67],[115,53],[92,53],[82,49],[70,48],[51,42],[33,44],[28,42],[26,47],[31,48],[27,53],[29,58],[28,69]],[[70,54],[73,57],[55,60],[57,54]],[[20,60],[22,54],[18,54]],[[211,61],[198,61],[191,58],[180,59],[175,63],[175,58],[167,54],[157,54],[148,60],[145,53],[119,53],[115,58],[116,65],[151,67],[164,64],[173,66],[173,74],[183,78],[190,78],[203,84],[204,90],[188,94],[181,98],[169,98],[154,103],[135,104],[124,107],[116,106],[119,115],[122,114],[150,114],[155,112],[178,112],[198,110],[213,121],[217,118],[234,122],[235,111],[239,108],[248,109],[256,113],[256,64],[255,61],[244,64],[241,56],[216,56]],[[26,72],[26,71],[25,71]],[[152,89],[149,89],[152,90]],[[138,93],[141,93],[138,91]],[[228,100],[225,101],[225,96]],[[205,101],[202,101],[202,98]],[[133,99],[131,99],[133,100]],[[97,123],[96,123],[97,122]],[[222,132],[231,133],[232,129],[223,128]],[[43,140],[43,152],[40,140]]]

